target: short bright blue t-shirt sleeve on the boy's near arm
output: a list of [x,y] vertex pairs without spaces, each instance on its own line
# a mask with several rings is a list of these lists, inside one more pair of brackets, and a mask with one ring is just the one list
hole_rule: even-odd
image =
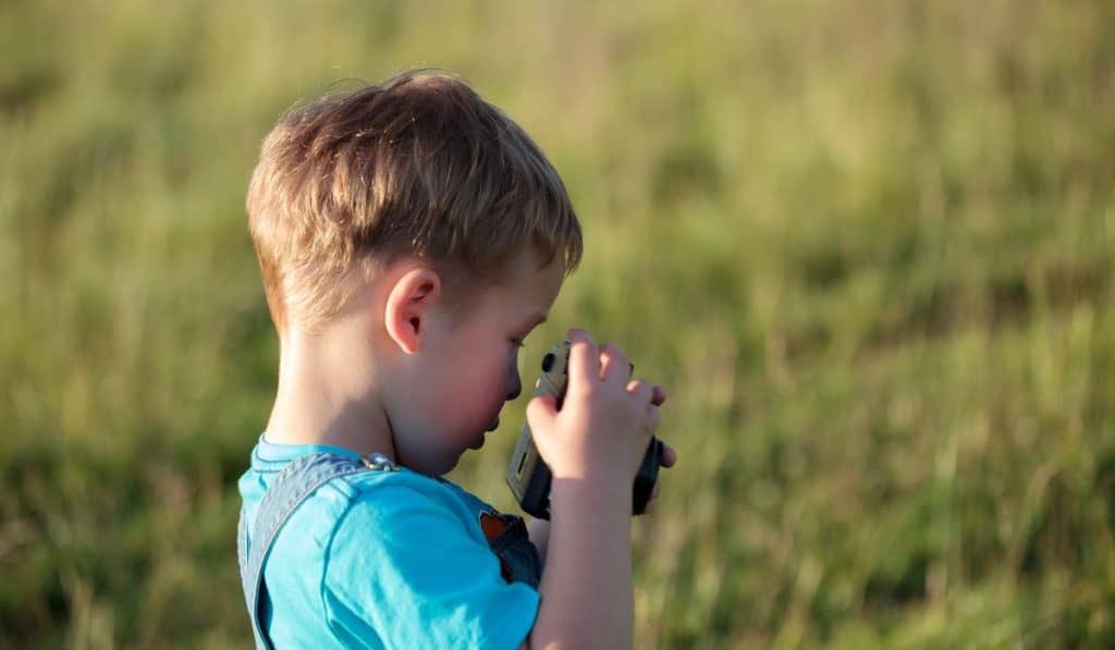
[[338,522],[322,598],[355,647],[517,648],[539,609],[449,505],[409,486],[361,495]]

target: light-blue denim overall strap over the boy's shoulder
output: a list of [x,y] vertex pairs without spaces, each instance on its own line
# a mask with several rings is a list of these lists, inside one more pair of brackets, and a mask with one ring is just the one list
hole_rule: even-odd
[[387,466],[382,466],[375,462],[369,463],[328,452],[309,454],[283,467],[268,487],[259,510],[255,511],[255,524],[252,526],[250,544],[246,534],[248,522],[241,516],[237,535],[240,578],[243,581],[244,598],[248,614],[252,619],[256,648],[272,649],[260,615],[261,604],[268,592],[268,585],[263,580],[263,566],[287,520],[307,497],[329,481],[347,474],[387,468],[394,468],[389,460]]

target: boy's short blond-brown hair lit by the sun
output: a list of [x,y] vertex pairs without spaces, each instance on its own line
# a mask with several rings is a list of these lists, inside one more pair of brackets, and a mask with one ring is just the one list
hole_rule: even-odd
[[563,273],[582,251],[537,145],[464,81],[430,70],[287,114],[263,140],[248,215],[280,333],[328,320],[399,255],[497,281],[527,244]]

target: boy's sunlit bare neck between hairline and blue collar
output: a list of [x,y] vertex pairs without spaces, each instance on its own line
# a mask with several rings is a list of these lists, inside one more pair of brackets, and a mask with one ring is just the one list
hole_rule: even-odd
[[266,440],[282,445],[331,445],[395,460],[390,423],[376,399],[370,351],[336,330],[283,338],[279,390]]

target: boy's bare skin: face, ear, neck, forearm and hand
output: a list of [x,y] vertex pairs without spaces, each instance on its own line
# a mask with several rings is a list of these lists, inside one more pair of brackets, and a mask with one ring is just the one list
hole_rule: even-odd
[[[561,282],[555,264],[542,266],[525,250],[506,281],[474,283],[454,302],[462,289],[428,263],[396,260],[319,331],[288,328],[268,440],[378,452],[430,476],[449,472],[521,392],[518,349]],[[526,411],[553,473],[551,521],[530,523],[546,570],[527,644],[629,647],[631,485],[666,392],[633,380],[619,349],[598,347],[582,330],[569,339],[562,409],[546,396]],[[676,459],[666,447],[662,466]]]

